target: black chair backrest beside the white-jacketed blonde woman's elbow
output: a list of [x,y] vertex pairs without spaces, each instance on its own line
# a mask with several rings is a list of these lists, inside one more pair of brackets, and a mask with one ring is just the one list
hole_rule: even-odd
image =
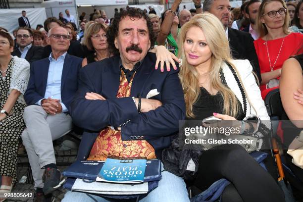
[[281,102],[280,90],[274,89],[265,97],[265,106],[267,113],[271,119],[281,119],[284,113],[284,108]]

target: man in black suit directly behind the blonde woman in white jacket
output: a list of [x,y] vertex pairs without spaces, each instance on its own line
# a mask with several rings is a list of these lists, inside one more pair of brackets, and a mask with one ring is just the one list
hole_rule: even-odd
[[261,83],[260,67],[253,45],[253,38],[249,33],[227,27],[231,15],[230,10],[229,0],[204,0],[203,2],[203,11],[214,14],[221,21],[232,50],[232,56],[235,59],[248,59],[253,66],[253,71],[258,77],[259,83]]

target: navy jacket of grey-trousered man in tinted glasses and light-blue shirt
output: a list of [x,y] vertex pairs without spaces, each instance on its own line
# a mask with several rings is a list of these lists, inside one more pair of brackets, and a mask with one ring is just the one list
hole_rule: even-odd
[[[69,54],[65,55],[61,77],[61,100],[68,109],[78,90],[78,74],[81,69],[81,63],[81,58]],[[30,79],[24,94],[24,100],[27,105],[35,104],[44,98],[49,66],[49,58],[44,58],[31,64]]]

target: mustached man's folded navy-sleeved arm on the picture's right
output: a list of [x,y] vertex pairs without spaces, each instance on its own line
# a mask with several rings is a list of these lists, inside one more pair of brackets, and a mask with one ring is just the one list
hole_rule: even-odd
[[143,136],[143,140],[149,140],[178,131],[179,120],[185,118],[185,101],[177,71],[166,78],[161,94],[162,106],[140,113],[138,120],[133,119],[121,126],[123,141],[131,140],[131,136]]

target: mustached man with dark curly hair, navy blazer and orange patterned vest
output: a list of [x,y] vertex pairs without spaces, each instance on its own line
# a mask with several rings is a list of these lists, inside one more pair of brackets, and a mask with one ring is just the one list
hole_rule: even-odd
[[[185,117],[179,70],[155,70],[155,54],[148,52],[155,41],[152,22],[140,8],[117,13],[106,36],[115,56],[82,69],[71,103],[73,122],[90,131],[82,136],[77,160],[106,160],[110,155],[161,159],[178,131],[178,120]],[[164,170],[161,174],[158,187],[140,201],[189,202],[183,179]],[[68,192],[62,202],[91,199],[109,201]]]

